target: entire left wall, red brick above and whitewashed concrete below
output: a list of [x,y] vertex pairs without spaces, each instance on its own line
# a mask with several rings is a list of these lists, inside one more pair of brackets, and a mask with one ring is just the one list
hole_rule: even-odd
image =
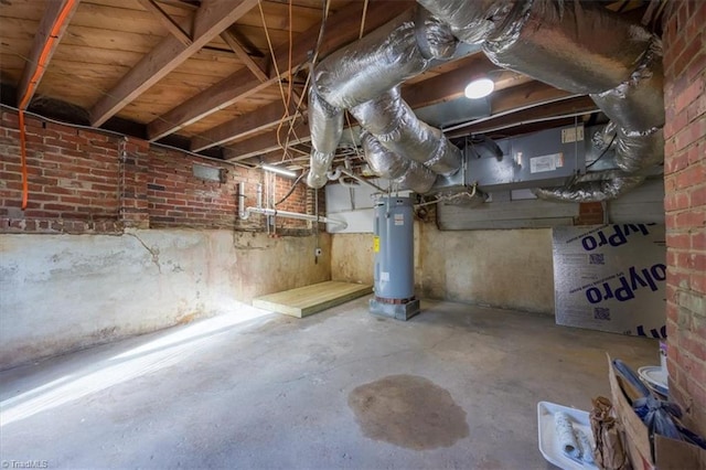
[[[22,211],[17,115],[3,110],[1,122],[0,370],[237,316],[259,295],[331,279],[328,234],[278,217],[275,238],[263,216],[237,217],[238,183],[246,183],[246,204],[256,205],[260,170],[140,139],[28,117]],[[225,182],[194,178],[194,163],[227,169]],[[293,181],[276,181],[281,199]],[[301,185],[282,209],[313,211],[312,200]]]

